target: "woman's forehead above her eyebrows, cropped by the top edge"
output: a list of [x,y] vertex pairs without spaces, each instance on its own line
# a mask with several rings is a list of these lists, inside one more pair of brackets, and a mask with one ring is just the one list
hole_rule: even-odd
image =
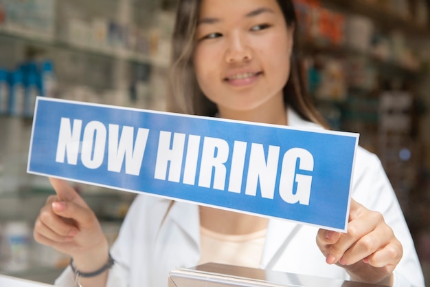
[[255,16],[257,10],[282,14],[276,0],[202,0],[199,19],[246,18]]

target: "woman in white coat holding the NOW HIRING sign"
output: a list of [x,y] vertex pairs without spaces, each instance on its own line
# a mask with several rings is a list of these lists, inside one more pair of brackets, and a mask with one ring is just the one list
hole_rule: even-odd
[[[180,1],[170,110],[321,129],[294,61],[295,23],[289,0]],[[73,258],[75,272],[67,268],[60,286],[166,286],[170,270],[205,262],[424,286],[394,191],[361,148],[348,233],[138,195],[111,248],[115,264],[87,204],[66,182],[51,181],[57,196],[34,237]]]

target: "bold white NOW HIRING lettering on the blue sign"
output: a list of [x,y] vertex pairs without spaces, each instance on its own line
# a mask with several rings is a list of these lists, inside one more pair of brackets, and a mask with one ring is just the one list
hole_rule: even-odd
[[[65,163],[67,158],[67,164],[76,165],[80,159],[84,167],[98,169],[107,155],[108,171],[119,173],[124,165],[126,174],[139,176],[149,132],[149,129],[138,128],[135,133],[135,127],[128,126],[121,127],[120,132],[118,125],[106,127],[95,120],[82,128],[82,120],[61,118],[56,162]],[[284,202],[309,204],[312,176],[298,173],[313,171],[314,158],[306,149],[288,149],[282,155],[279,176],[280,147],[274,145],[269,145],[266,158],[262,144],[235,141],[230,147],[222,138],[160,131],[157,151],[150,152],[157,152],[154,174],[157,180],[197,184],[222,191],[227,185],[227,191],[240,193],[246,170],[246,195],[256,196],[260,183],[262,198],[273,199],[279,180],[279,195]],[[229,169],[228,160],[231,160]],[[245,162],[248,162],[247,169]],[[199,180],[196,182],[198,172]]]

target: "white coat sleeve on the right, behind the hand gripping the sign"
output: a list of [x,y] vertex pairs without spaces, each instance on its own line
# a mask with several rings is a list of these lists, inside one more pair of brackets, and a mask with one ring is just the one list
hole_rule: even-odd
[[381,212],[403,246],[403,257],[394,270],[394,286],[424,287],[424,277],[414,242],[381,161],[364,149],[358,150],[352,198],[367,209]]

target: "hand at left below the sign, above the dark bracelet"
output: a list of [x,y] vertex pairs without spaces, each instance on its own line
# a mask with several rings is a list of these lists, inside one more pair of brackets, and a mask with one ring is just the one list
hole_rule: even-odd
[[34,224],[34,240],[70,255],[82,272],[103,266],[109,244],[86,202],[65,180],[49,178],[56,195],[47,199]]

